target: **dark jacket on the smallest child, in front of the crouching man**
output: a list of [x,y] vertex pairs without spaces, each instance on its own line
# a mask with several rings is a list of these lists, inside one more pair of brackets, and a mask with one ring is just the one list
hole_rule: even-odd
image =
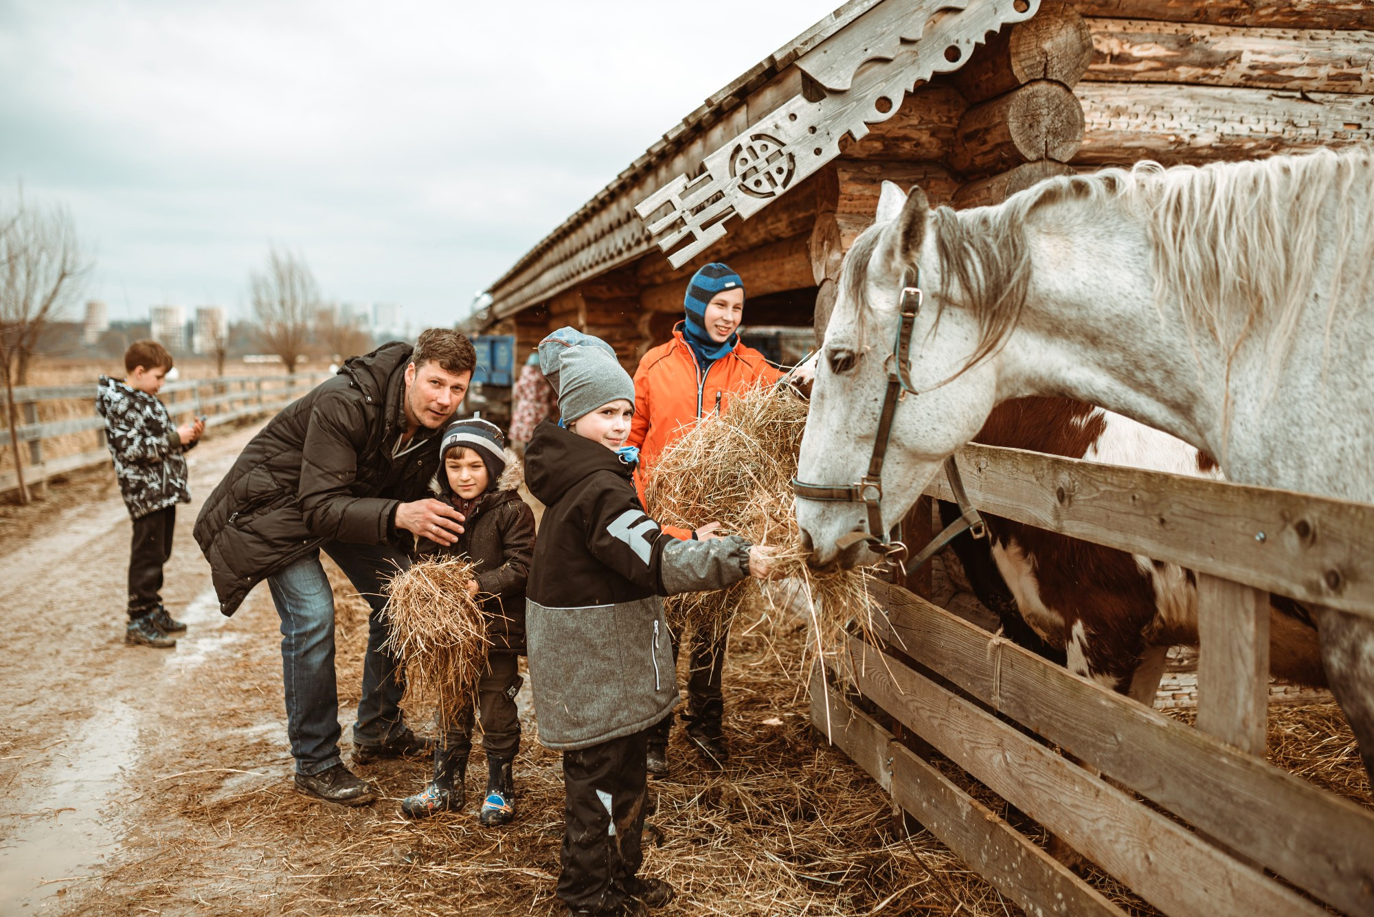
[[[458,556],[477,564],[477,594],[486,615],[486,638],[493,652],[525,653],[525,583],[534,553],[534,511],[519,498],[521,463],[506,453],[506,474],[496,489],[467,508],[463,534],[452,545],[415,535],[422,557]],[[430,482],[430,493],[459,507],[442,465]],[[409,534],[409,533],[407,533]]]

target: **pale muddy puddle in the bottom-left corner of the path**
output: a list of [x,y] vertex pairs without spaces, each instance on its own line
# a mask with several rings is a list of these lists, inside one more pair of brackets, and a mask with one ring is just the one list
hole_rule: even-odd
[[137,711],[114,701],[87,721],[76,743],[48,752],[43,789],[23,803],[29,817],[5,820],[12,831],[0,840],[0,914],[56,910],[59,892],[120,848],[118,825],[100,809],[135,763],[137,739]]

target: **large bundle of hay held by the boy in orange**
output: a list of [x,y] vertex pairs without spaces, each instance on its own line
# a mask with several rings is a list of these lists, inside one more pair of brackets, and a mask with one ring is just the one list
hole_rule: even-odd
[[[819,641],[851,618],[866,625],[871,599],[863,571],[822,575],[807,566],[791,493],[807,412],[807,399],[786,383],[734,395],[724,412],[703,417],[664,450],[644,497],[660,523],[697,529],[719,522],[720,534],[776,546],[774,582],[787,578],[801,592]],[[758,581],[673,596],[665,612],[679,633],[720,633],[752,590]],[[764,599],[771,603],[771,592]]]

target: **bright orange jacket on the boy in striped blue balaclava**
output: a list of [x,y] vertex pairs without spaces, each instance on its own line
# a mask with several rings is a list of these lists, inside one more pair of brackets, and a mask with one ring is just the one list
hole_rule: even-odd
[[[635,371],[635,420],[629,445],[639,446],[639,469],[635,487],[644,501],[646,475],[677,437],[712,410],[724,410],[732,394],[753,386],[772,384],[782,373],[761,353],[736,343],[728,354],[710,364],[702,378],[691,347],[683,339],[683,323],[673,328],[673,339],[661,343],[639,361]],[[708,522],[720,522],[702,519]],[[664,526],[679,538],[691,538],[690,530]]]

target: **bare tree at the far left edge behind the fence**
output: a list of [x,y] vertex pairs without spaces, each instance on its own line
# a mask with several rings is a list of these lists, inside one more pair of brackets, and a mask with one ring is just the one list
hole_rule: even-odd
[[27,203],[21,192],[8,213],[0,213],[0,372],[21,502],[29,502],[29,490],[15,428],[14,386],[27,382],[38,336],[80,292],[88,266],[65,207]]

